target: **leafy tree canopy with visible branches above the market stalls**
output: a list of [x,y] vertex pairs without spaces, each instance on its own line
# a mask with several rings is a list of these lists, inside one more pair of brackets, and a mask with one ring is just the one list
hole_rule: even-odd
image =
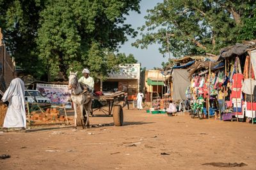
[[[159,43],[174,57],[218,54],[234,43],[255,39],[255,0],[164,0],[148,10],[141,39],[132,45]],[[169,46],[169,47],[168,47]]]

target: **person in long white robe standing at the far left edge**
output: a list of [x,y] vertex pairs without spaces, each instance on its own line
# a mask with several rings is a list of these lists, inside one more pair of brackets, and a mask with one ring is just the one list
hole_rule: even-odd
[[9,101],[4,118],[4,128],[26,128],[24,94],[24,82],[20,78],[13,79],[1,99],[3,102]]

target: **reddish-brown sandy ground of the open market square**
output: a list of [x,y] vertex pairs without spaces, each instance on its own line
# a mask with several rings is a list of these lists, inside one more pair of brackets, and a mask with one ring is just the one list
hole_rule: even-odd
[[[124,110],[122,127],[0,133],[0,169],[256,169],[256,125]],[[90,118],[91,125],[113,118]],[[169,155],[161,155],[167,153]],[[241,163],[214,167],[211,162]]]

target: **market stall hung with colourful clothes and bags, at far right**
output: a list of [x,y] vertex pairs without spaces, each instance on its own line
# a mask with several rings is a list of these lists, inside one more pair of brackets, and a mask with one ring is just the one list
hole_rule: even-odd
[[189,67],[187,99],[205,100],[208,118],[254,122],[256,110],[256,41],[237,43],[221,50],[218,60],[198,61]]

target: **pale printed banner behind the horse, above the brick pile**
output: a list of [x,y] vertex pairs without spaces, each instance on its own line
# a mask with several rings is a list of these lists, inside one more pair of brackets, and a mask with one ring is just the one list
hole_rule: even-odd
[[68,99],[70,98],[68,85],[37,83],[36,90],[40,91],[44,96],[51,99],[52,104],[65,104],[66,108],[71,108],[71,103],[68,102]]

